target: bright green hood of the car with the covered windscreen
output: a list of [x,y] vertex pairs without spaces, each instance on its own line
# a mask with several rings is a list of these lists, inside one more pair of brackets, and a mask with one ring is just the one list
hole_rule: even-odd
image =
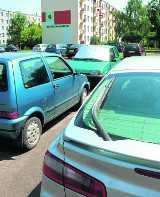
[[70,61],[69,64],[74,70],[77,70],[82,73],[90,73],[90,71],[93,70],[100,71],[107,64],[108,66],[110,65],[109,62],[104,62],[104,61],[92,62],[92,61],[75,61],[75,60]]

